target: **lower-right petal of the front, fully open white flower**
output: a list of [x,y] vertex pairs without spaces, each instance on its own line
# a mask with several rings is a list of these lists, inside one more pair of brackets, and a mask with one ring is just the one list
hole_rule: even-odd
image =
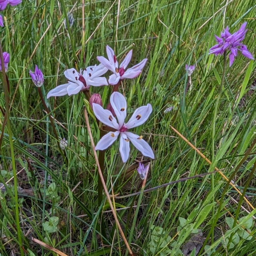
[[141,139],[139,135],[133,134],[132,132],[124,132],[124,134],[132,142],[133,146],[142,153],[143,156],[148,156],[152,159],[155,158],[152,148],[150,148],[148,143]]

